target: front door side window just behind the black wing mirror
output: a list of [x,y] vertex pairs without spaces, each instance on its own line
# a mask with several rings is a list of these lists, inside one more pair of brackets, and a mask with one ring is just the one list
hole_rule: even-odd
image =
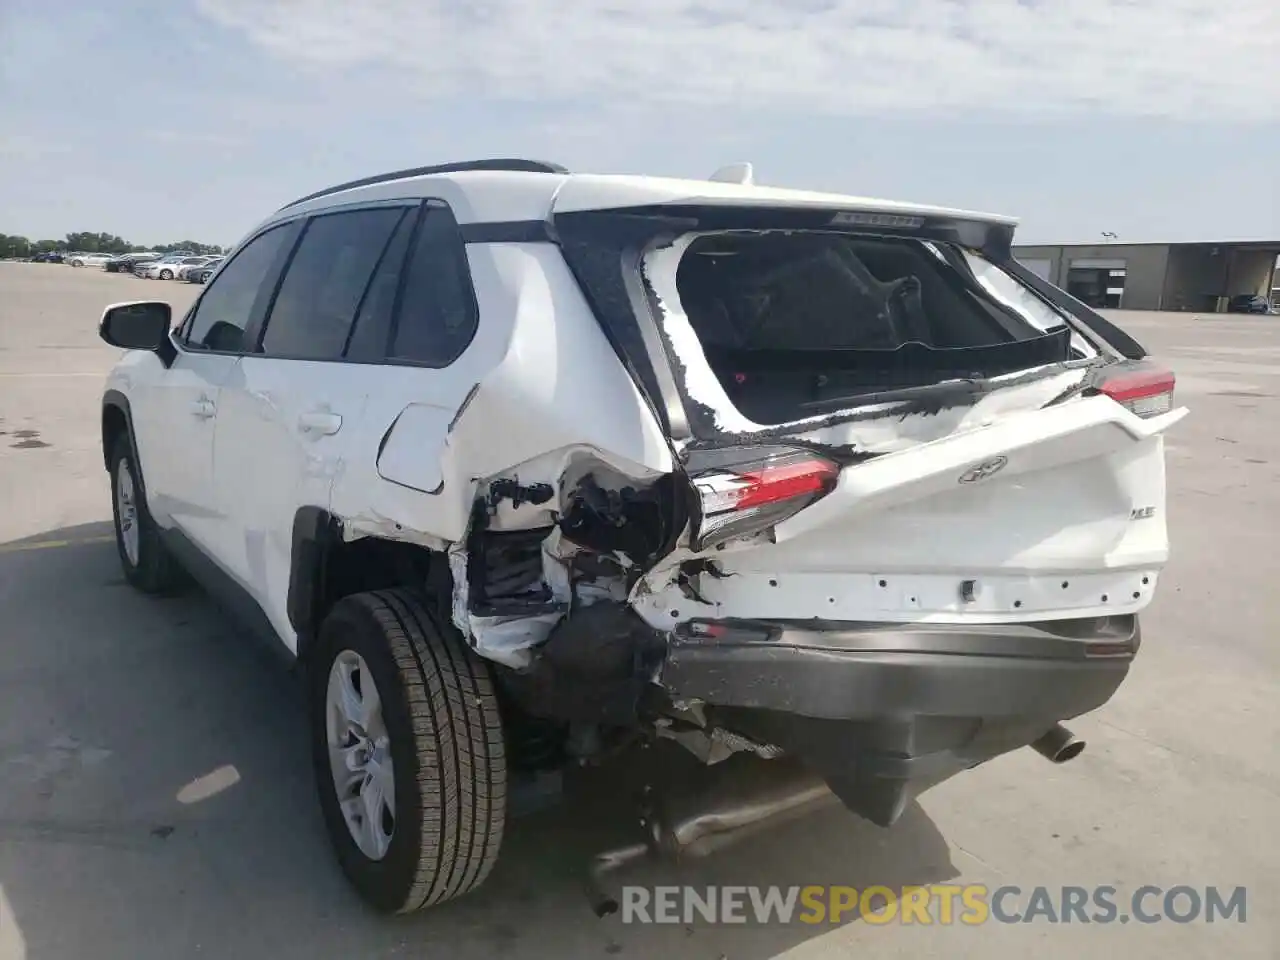
[[294,236],[293,224],[260,233],[230,260],[205,289],[187,325],[186,346],[195,349],[238,352],[244,349],[248,326],[262,282]]

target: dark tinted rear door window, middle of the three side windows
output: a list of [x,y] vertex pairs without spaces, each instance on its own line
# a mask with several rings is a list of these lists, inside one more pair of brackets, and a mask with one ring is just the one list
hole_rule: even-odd
[[356,311],[402,219],[403,207],[314,218],[275,296],[262,352],[300,360],[342,357]]

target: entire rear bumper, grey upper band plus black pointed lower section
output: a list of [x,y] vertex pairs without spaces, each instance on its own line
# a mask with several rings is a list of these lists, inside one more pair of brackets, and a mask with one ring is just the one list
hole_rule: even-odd
[[893,823],[923,790],[1106,703],[1135,616],[983,626],[701,621],[662,685],[799,755],[851,810]]

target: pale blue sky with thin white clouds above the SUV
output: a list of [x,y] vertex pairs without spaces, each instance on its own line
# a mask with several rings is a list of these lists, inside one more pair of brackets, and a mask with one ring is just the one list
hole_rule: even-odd
[[483,156],[1280,239],[1276,0],[0,0],[0,232],[229,244]]

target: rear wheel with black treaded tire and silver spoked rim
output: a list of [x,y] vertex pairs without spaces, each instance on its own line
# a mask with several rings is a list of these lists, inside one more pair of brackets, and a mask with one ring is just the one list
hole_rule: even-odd
[[[498,859],[507,810],[502,718],[489,668],[426,598],[399,589],[339,600],[312,654],[316,790],[347,879],[384,913],[412,913],[479,887]],[[380,709],[365,714],[370,678]],[[348,722],[352,713],[369,719],[357,727]],[[356,767],[330,759],[343,754],[355,756]],[[389,781],[374,772],[384,769],[378,758],[387,755]],[[339,776],[357,809],[356,826],[339,803]],[[387,794],[390,805],[380,800]],[[378,829],[365,815],[369,803]]]

